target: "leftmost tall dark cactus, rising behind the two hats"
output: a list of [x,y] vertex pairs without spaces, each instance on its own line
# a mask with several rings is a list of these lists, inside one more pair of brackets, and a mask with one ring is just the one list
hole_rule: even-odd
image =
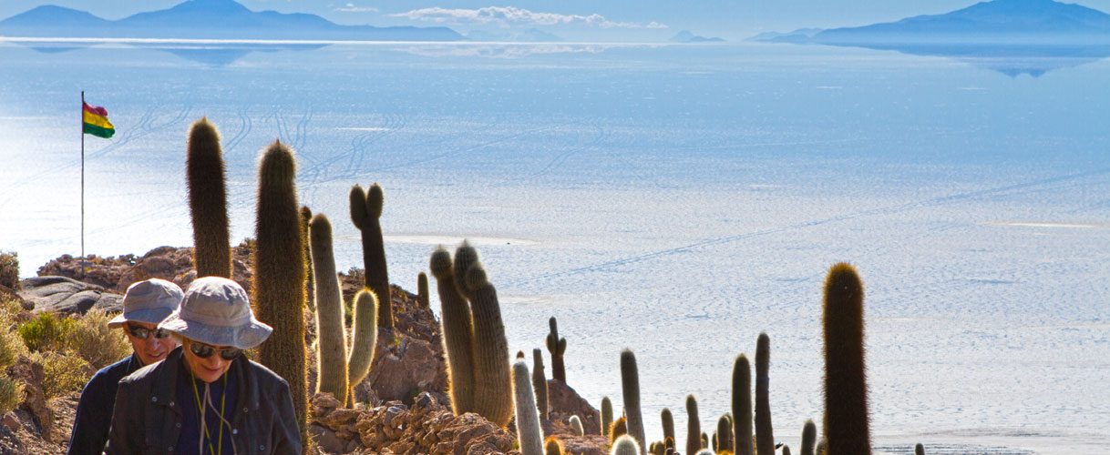
[[231,278],[228,190],[220,132],[203,117],[189,128],[185,183],[193,220],[193,262],[198,277]]

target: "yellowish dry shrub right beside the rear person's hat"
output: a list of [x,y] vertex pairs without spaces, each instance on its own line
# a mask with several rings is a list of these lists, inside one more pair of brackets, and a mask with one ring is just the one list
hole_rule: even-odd
[[103,310],[91,309],[65,333],[65,345],[97,370],[131,354],[131,342],[122,330],[108,328],[110,320]]

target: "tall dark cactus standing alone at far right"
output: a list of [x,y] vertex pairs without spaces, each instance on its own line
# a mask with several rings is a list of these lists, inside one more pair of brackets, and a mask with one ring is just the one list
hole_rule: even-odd
[[825,431],[829,455],[870,455],[864,361],[864,283],[837,263],[825,279]]

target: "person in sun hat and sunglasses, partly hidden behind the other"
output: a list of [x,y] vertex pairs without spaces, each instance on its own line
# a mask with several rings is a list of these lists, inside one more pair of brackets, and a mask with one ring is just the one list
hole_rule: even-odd
[[70,433],[69,455],[101,453],[108,441],[120,380],[143,365],[160,362],[176,348],[176,340],[157,327],[178,309],[181,299],[178,285],[158,278],[128,287],[123,296],[123,312],[109,321],[108,327],[123,329],[133,352],[127,359],[98,371],[84,385]]

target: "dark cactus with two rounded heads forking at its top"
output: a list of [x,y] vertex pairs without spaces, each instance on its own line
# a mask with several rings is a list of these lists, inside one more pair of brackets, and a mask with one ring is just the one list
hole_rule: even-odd
[[377,296],[377,327],[393,329],[393,302],[390,298],[390,275],[385,269],[385,244],[382,240],[382,187],[371,185],[370,192],[351,187],[351,221],[362,231],[362,263],[366,269],[366,287]]

